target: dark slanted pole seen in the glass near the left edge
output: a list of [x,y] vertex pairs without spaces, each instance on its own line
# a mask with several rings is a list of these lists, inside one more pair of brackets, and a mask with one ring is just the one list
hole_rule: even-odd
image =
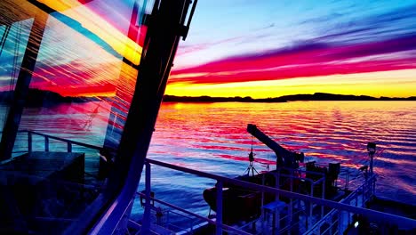
[[29,84],[32,79],[33,70],[35,69],[37,54],[42,43],[47,20],[48,15],[39,10],[33,21],[33,26],[28,36],[28,45],[23,55],[23,60],[21,61],[21,68],[13,93],[12,105],[4,123],[2,142],[0,142],[0,160],[12,158],[14,142],[18,134],[25,102],[28,99]]

